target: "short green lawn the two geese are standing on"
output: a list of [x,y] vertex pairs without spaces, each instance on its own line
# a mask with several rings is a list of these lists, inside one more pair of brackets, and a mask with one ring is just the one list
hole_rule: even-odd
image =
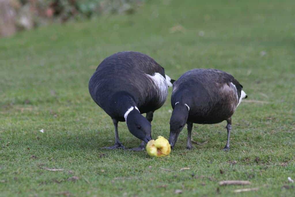
[[[294,5],[153,0],[132,15],[1,38],[0,196],[236,196],[257,187],[239,196],[293,196]],[[101,149],[114,143],[114,127],[92,101],[88,80],[118,51],[150,55],[173,79],[194,68],[235,76],[249,97],[232,117],[230,151],[222,150],[226,122],[194,124],[192,150],[184,128],[165,158]],[[154,114],[153,138],[169,137],[171,90]],[[140,144],[125,123],[119,136],[127,147]],[[251,185],[219,186],[222,180]]]

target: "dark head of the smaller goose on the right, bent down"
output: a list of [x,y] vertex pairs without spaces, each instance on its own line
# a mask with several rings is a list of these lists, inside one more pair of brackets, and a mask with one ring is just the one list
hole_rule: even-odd
[[171,148],[174,147],[179,133],[182,131],[183,127],[186,125],[187,118],[189,116],[189,108],[185,104],[177,103],[172,112],[170,118],[170,137],[169,144]]

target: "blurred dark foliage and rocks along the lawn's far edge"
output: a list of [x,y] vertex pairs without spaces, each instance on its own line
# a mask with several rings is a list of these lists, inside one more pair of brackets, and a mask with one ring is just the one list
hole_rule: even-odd
[[0,0],[0,36],[52,22],[132,14],[145,0]]

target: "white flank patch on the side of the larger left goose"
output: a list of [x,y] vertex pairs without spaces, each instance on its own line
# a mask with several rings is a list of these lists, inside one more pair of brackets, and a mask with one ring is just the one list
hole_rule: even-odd
[[155,83],[155,88],[158,90],[158,99],[160,103],[165,102],[168,96],[168,84],[166,79],[160,74],[155,73],[154,76],[147,74]]

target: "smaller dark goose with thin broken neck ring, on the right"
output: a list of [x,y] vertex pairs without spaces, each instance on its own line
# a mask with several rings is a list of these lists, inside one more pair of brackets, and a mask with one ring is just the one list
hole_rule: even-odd
[[187,149],[191,149],[193,123],[215,124],[227,121],[227,143],[230,149],[232,115],[248,96],[243,86],[230,74],[217,69],[193,69],[184,73],[173,83],[170,118],[171,148],[187,124]]

